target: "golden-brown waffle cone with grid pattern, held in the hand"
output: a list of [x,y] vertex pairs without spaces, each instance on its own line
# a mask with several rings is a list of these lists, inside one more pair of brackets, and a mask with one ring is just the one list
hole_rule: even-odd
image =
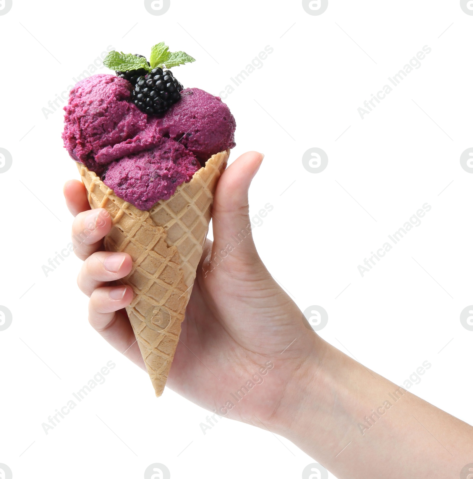
[[202,246],[213,194],[230,150],[213,155],[190,182],[168,199],[142,211],[118,196],[86,166],[77,163],[92,208],[105,208],[112,228],[106,251],[129,253],[130,274],[120,280],[133,288],[126,310],[144,363],[161,396],[176,352]]

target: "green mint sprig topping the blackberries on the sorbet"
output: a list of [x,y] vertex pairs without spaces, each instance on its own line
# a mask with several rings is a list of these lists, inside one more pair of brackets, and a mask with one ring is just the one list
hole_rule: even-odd
[[186,52],[170,52],[164,42],[157,43],[151,48],[150,65],[146,58],[135,57],[131,53],[111,51],[104,59],[104,65],[115,71],[129,71],[144,68],[151,71],[153,68],[173,68],[186,63],[192,63],[192,58]]

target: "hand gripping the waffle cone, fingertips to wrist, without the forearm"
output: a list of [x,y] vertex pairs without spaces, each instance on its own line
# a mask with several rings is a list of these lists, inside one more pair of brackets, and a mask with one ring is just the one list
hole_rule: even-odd
[[[251,236],[248,188],[262,158],[245,153],[218,182],[214,242],[204,245],[167,386],[219,415],[270,427],[282,420],[282,398],[289,401],[298,389],[317,335],[264,267]],[[104,209],[90,211],[82,182],[66,183],[64,194],[76,215],[73,238],[98,218],[75,249],[84,260],[78,285],[90,297],[89,321],[145,369],[124,309],[133,293],[119,283],[130,273],[131,258],[103,251],[110,217]]]

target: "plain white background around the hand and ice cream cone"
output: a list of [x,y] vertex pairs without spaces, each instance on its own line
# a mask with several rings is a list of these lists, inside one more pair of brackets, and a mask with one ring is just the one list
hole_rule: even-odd
[[[81,262],[42,271],[70,242],[62,185],[78,178],[63,112],[42,108],[110,45],[149,55],[164,40],[197,58],[174,69],[184,86],[215,95],[274,48],[225,99],[231,159],[266,155],[250,190],[252,216],[274,206],[254,230],[262,259],[302,310],[327,310],[325,340],[399,385],[429,361],[410,391],[473,423],[473,331],[460,322],[473,304],[473,175],[460,165],[473,147],[472,25],[457,0],[330,0],[319,16],[300,1],[171,0],[154,16],[142,1],[13,0],[0,16],[0,148],[12,155],[0,174],[0,305],[13,318],[0,331],[0,463],[13,477],[142,478],[160,462],[172,478],[300,478],[314,462],[227,419],[204,435],[207,411],[168,389],[154,398],[89,326]],[[425,45],[422,66],[362,120],[357,109]],[[319,174],[302,165],[313,147],[329,157]],[[362,278],[357,266],[425,203],[422,224]],[[41,424],[110,360],[105,384],[46,435]]]

